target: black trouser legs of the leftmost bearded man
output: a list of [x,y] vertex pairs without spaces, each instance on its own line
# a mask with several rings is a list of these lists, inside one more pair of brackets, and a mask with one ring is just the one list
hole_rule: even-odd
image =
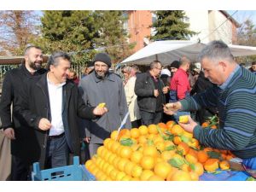
[[28,166],[24,160],[20,159],[15,155],[12,156],[12,170],[11,180],[12,181],[28,181],[31,180],[30,172],[32,166]]

